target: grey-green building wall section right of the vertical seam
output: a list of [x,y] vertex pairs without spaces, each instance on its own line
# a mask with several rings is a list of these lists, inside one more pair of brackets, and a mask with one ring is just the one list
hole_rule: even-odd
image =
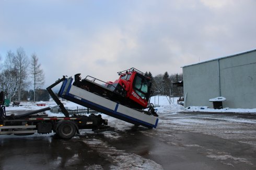
[[219,60],[220,91],[228,108],[256,108],[256,51]]

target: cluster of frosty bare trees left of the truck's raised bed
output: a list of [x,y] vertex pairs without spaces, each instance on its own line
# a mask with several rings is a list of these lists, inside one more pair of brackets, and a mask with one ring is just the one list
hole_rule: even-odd
[[[22,47],[17,48],[16,53],[12,50],[7,51],[5,60],[0,66],[0,90],[4,91],[7,99],[40,101],[44,97],[37,96],[45,93],[45,90],[40,88],[43,84],[44,72],[36,53],[28,58]],[[28,91],[31,85],[33,90]],[[48,94],[48,100],[49,98]]]

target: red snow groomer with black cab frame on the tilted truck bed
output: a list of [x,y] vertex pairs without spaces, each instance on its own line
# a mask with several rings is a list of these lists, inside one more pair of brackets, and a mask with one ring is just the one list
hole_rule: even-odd
[[[118,74],[120,77],[114,82],[103,82],[91,76],[82,80],[80,74],[76,74],[73,85],[129,108],[146,109],[152,87],[150,77],[135,68],[120,71]],[[157,115],[152,104],[149,104],[149,111]]]

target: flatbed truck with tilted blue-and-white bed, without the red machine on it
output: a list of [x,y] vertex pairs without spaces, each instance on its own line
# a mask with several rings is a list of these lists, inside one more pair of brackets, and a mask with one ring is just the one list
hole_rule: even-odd
[[137,111],[119,103],[113,102],[106,98],[100,97],[82,88],[72,85],[73,79],[63,76],[62,79],[47,87],[49,94],[57,103],[64,117],[40,116],[34,115],[39,112],[50,110],[50,107],[30,111],[21,115],[6,115],[5,105],[1,103],[0,109],[0,135],[32,135],[34,133],[49,134],[52,131],[63,139],[70,139],[79,129],[92,129],[94,132],[102,132],[105,130],[113,130],[108,126],[108,120],[102,119],[101,115],[90,114],[69,116],[68,111],[63,103],[53,93],[52,88],[59,83],[63,83],[58,96],[69,101],[78,103],[82,106],[100,111],[101,113],[113,116],[117,119],[132,123],[134,125],[142,125],[148,128],[156,128],[158,118],[156,116],[147,115],[147,111]]

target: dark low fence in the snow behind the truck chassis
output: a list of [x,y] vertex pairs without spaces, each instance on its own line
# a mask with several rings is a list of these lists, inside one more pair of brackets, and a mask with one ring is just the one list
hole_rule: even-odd
[[[78,108],[77,109],[69,109],[66,107],[66,110],[68,111],[69,115],[79,114],[79,115],[85,115],[85,114],[100,114],[100,112],[96,110],[92,110],[89,108]],[[52,113],[60,113],[61,109],[59,107],[51,108],[50,110]]]

